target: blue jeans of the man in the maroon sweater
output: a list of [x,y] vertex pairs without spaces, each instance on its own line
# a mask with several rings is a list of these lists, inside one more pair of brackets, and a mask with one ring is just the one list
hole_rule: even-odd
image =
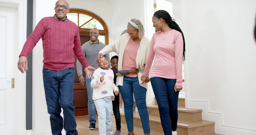
[[64,114],[64,129],[66,135],[77,135],[74,99],[74,67],[61,71],[43,68],[44,92],[47,110],[50,114],[52,135],[61,135]]

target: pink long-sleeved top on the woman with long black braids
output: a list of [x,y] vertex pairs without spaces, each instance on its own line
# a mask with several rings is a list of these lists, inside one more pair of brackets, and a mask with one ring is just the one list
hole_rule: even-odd
[[175,85],[182,86],[182,55],[183,39],[180,32],[173,29],[154,33],[143,76],[148,76],[154,60],[150,77],[177,79]]

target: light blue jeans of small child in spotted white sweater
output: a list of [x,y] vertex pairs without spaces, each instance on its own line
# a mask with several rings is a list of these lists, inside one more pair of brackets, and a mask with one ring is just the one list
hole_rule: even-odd
[[112,99],[108,97],[103,97],[94,100],[94,103],[98,112],[100,135],[110,134],[112,123]]

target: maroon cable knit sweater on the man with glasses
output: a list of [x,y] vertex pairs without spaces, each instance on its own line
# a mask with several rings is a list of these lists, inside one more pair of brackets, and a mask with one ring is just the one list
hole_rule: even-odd
[[44,68],[59,71],[74,67],[74,54],[84,68],[89,66],[74,22],[58,21],[54,17],[43,18],[26,40],[20,56],[27,57],[40,38],[44,49]]

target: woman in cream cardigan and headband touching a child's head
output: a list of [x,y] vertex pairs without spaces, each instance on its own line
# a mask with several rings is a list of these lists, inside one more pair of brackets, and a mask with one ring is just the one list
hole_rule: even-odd
[[[124,113],[128,135],[133,132],[133,94],[140,114],[140,120],[145,135],[150,135],[148,109],[146,105],[147,84],[139,78],[144,72],[146,57],[150,48],[150,40],[144,38],[144,28],[140,20],[132,19],[128,22],[127,34],[100,50],[99,58],[109,52],[118,54],[118,71],[138,69],[138,73],[117,76],[116,86],[119,87],[124,102]],[[149,80],[147,80],[149,81]]]

